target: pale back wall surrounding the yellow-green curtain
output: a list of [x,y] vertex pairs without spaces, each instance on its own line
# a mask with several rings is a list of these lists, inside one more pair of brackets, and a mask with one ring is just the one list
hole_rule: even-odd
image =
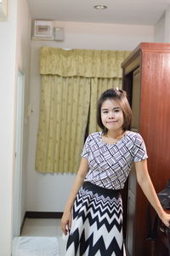
[[35,171],[41,80],[39,54],[41,46],[70,49],[133,50],[140,42],[153,42],[153,26],[125,26],[55,21],[65,28],[65,41],[31,42],[31,108],[27,167],[27,211],[62,212],[75,175],[41,174]]

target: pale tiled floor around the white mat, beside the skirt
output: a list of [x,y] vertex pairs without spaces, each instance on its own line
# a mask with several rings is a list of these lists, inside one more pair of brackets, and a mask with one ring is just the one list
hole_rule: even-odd
[[65,256],[65,237],[60,229],[60,219],[26,218],[21,236],[55,236],[59,241],[59,256]]

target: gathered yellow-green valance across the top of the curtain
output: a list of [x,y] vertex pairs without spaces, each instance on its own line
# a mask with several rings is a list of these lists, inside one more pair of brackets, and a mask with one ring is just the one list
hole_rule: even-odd
[[42,47],[40,73],[63,77],[122,78],[122,61],[129,51]]

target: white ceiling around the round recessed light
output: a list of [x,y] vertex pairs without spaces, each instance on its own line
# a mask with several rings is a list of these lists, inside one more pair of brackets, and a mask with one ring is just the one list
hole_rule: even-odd
[[[32,20],[155,25],[170,0],[27,0]],[[97,10],[103,4],[107,9]]]

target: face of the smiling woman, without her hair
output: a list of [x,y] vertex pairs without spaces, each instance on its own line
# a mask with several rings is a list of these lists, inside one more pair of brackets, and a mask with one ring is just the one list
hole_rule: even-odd
[[113,99],[107,99],[101,105],[101,120],[108,131],[122,130],[124,122],[122,108]]

